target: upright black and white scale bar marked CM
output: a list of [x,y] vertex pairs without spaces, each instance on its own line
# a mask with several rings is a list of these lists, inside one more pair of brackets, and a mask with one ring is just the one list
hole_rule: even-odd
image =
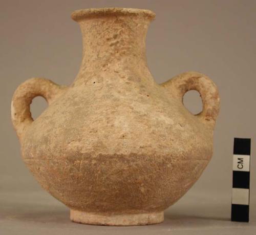
[[231,221],[249,222],[251,139],[234,138]]

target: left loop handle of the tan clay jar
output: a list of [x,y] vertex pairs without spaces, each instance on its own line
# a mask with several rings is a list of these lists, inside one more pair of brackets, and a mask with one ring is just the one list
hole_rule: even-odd
[[59,97],[68,87],[59,86],[46,78],[31,78],[18,86],[12,97],[11,116],[19,139],[33,122],[30,104],[36,96],[42,96],[48,104]]

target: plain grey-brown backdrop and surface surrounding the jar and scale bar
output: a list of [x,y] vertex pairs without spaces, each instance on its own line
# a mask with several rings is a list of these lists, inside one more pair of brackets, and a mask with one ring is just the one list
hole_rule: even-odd
[[[255,61],[256,1],[0,1],[0,233],[1,234],[254,234],[256,227]],[[12,128],[10,103],[30,77],[59,84],[74,80],[81,62],[81,34],[72,11],[92,7],[151,9],[156,20],[147,34],[147,62],[159,83],[198,71],[217,84],[221,112],[214,156],[198,182],[173,207],[165,222],[142,227],[71,223],[68,209],[45,193],[23,163]],[[185,104],[197,113],[199,96]],[[37,117],[47,104],[35,98]],[[233,137],[252,138],[250,224],[230,222]]]

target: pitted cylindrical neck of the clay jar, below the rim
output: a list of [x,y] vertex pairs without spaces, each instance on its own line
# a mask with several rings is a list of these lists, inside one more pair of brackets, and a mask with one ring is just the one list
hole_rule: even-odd
[[108,15],[80,20],[83,55],[76,80],[96,71],[147,70],[145,38],[150,21],[138,15]]

